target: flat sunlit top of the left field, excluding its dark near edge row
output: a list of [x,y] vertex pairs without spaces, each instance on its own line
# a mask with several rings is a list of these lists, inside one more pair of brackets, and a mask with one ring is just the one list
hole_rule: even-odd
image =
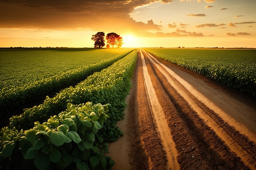
[[0,49],[0,89],[29,86],[128,51],[131,49]]

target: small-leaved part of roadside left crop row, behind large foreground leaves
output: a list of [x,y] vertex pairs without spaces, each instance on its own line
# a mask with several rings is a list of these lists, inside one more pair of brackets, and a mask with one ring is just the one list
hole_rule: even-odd
[[[92,126],[88,121],[83,121],[83,124],[88,127],[92,126],[94,131],[100,130],[100,137],[104,140],[116,141],[122,136],[122,132],[115,124],[117,120],[124,117],[125,99],[131,88],[130,78],[132,77],[136,60],[137,51],[133,51],[110,67],[89,76],[75,87],[66,88],[53,98],[48,97],[45,99],[44,104],[29,108],[22,115],[11,117],[10,125],[15,126],[17,129],[29,129],[34,126],[32,122],[47,121],[49,116],[65,110],[66,106],[69,106],[68,102],[73,104],[80,104],[85,101],[111,103],[110,119],[106,120],[106,126],[102,129],[99,129],[97,124]],[[103,108],[96,107],[93,112],[101,112],[102,110]],[[93,117],[94,114],[91,114]],[[101,115],[101,117],[106,119],[105,115]],[[58,122],[54,122],[53,126],[55,128],[59,126]],[[113,133],[112,136],[109,135],[110,131]]]

